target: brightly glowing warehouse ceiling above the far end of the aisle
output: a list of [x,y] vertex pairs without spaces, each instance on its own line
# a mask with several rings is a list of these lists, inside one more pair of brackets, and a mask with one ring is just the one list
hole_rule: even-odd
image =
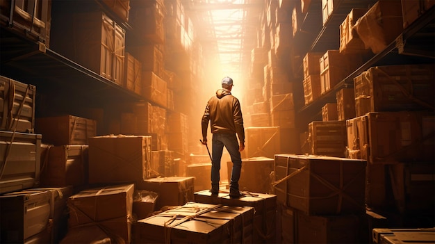
[[261,0],[188,0],[204,56],[220,63],[224,74],[241,76],[249,69],[260,26]]

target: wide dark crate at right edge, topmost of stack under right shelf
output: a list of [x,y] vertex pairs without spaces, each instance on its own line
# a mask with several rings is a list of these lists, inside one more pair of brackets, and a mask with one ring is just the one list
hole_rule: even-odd
[[434,65],[371,67],[354,78],[356,116],[433,109]]

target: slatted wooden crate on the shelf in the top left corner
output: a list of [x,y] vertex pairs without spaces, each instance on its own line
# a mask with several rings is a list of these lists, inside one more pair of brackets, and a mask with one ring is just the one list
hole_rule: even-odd
[[50,44],[51,0],[0,1],[1,26],[19,35]]

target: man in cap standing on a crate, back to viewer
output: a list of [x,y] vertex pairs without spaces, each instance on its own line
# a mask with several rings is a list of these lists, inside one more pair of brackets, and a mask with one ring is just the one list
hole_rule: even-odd
[[222,79],[222,89],[217,90],[216,95],[208,100],[204,115],[202,116],[201,142],[207,145],[207,129],[208,122],[210,121],[211,133],[213,134],[211,141],[211,194],[217,195],[219,193],[220,160],[225,146],[233,162],[229,196],[240,198],[244,196],[238,188],[238,180],[240,179],[240,170],[242,169],[240,152],[245,149],[245,129],[243,128],[240,102],[236,97],[231,95],[232,88],[233,79],[228,76],[224,77]]

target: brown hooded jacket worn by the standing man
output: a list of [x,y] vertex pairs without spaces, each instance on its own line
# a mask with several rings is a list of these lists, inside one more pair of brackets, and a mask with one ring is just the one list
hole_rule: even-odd
[[216,95],[208,100],[202,115],[202,137],[206,138],[208,121],[211,133],[237,133],[240,143],[245,143],[245,129],[240,102],[231,92],[219,89]]

